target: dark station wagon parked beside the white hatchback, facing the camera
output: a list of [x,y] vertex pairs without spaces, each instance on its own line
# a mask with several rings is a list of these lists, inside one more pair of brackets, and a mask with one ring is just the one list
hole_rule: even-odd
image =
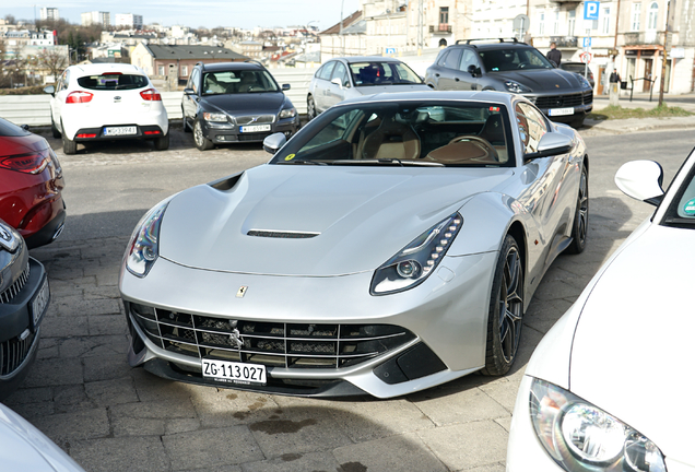
[[290,98],[259,62],[197,63],[184,90],[184,131],[193,131],[196,148],[261,142],[299,129],[299,117]]

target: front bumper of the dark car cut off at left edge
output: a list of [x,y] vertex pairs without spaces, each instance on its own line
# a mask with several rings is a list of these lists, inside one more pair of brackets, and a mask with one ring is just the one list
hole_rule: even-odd
[[42,312],[34,314],[33,307],[47,283],[44,266],[30,258],[25,282],[15,282],[14,295],[0,304],[0,400],[16,389],[36,357],[40,322],[48,309],[50,292]]

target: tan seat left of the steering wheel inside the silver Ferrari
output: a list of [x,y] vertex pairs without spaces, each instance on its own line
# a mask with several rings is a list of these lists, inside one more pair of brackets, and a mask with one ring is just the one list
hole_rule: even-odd
[[420,138],[413,128],[394,117],[385,118],[381,126],[369,134],[362,150],[362,158],[416,160],[420,157]]

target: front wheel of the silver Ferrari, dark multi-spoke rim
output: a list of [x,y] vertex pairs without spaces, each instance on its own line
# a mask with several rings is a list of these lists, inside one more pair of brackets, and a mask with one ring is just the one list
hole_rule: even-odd
[[516,239],[505,237],[495,268],[487,316],[483,375],[509,371],[519,349],[523,322],[523,266]]

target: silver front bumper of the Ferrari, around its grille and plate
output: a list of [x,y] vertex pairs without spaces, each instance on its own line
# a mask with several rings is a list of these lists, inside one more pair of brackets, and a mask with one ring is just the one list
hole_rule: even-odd
[[[121,270],[132,338],[129,363],[172,379],[281,394],[412,393],[483,367],[496,256],[446,258],[441,272],[420,286],[377,297],[368,293],[370,272],[332,278],[250,275],[196,270],[160,258],[144,279]],[[242,286],[248,288],[237,297]],[[140,306],[154,309],[141,316]],[[248,338],[243,349],[227,345],[228,320]],[[251,326],[264,328],[244,328]],[[379,338],[378,327],[385,326],[400,333],[397,342]],[[367,327],[360,335],[375,333],[372,341],[378,345],[340,334],[355,327]],[[314,329],[337,334],[306,334]],[[263,338],[278,345],[259,352],[258,340]],[[341,357],[351,353],[361,357]],[[203,357],[263,364],[268,384],[204,379]]]

